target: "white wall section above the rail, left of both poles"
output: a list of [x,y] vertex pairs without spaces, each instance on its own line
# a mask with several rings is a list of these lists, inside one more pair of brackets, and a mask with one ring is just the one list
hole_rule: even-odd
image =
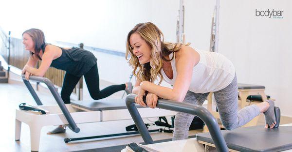
[[[39,28],[48,41],[84,42],[87,46],[125,52],[128,31],[153,22],[174,41],[178,0],[6,0],[0,4],[0,26],[21,38]],[[44,5],[45,4],[45,5]],[[4,7],[5,6],[5,7]]]

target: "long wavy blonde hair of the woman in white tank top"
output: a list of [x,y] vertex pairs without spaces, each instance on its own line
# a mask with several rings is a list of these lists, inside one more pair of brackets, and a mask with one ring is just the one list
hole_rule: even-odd
[[[138,57],[133,54],[133,49],[130,45],[130,36],[133,33],[138,33],[143,40],[146,41],[147,45],[151,48],[151,59],[143,65],[139,63]],[[181,49],[181,43],[169,43],[164,42],[164,35],[161,30],[157,28],[153,23],[139,23],[128,33],[127,44],[126,44],[126,60],[130,66],[133,67],[133,75],[139,78],[141,81],[154,82],[157,77],[160,77],[159,85],[163,80],[161,69],[163,61],[167,60],[165,57],[172,52],[177,52]],[[189,44],[186,44],[188,46]],[[130,56],[130,59],[128,59]]]

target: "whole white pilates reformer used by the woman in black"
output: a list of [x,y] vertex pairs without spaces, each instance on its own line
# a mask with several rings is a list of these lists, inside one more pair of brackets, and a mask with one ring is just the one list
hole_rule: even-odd
[[[33,89],[29,81],[22,76],[23,82],[32,94],[36,101],[36,107],[49,111],[46,114],[36,114],[29,111],[16,109],[16,126],[15,126],[15,140],[20,139],[21,122],[29,125],[31,136],[31,151],[38,151],[40,132],[43,126],[48,125],[68,125],[68,127],[75,133],[80,131],[76,123],[88,122],[104,122],[104,121],[117,121],[131,119],[125,99],[101,99],[94,101],[72,101],[71,104],[64,104],[60,95],[57,93],[54,84],[45,77],[30,76],[30,80],[44,83],[51,91],[52,95],[57,102],[57,105],[43,105],[37,96],[36,91]],[[175,112],[157,109],[155,112],[150,108],[137,106],[139,111],[143,113],[143,118],[173,116]],[[151,112],[149,112],[149,110]],[[149,132],[161,132],[162,129],[153,129]],[[101,135],[93,137],[79,137],[79,138],[65,138],[65,143],[75,140],[92,139],[100,137],[114,137],[123,135],[139,134],[138,131]]]

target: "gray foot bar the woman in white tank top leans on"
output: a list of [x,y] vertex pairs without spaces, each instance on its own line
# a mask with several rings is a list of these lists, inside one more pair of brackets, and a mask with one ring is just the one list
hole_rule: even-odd
[[[137,107],[135,106],[135,94],[129,94],[126,98],[126,105],[132,116],[144,142],[146,144],[153,144],[153,139],[151,138],[146,126],[142,120]],[[144,100],[145,102],[146,100]],[[219,152],[228,152],[226,142],[220,132],[218,123],[212,114],[204,107],[191,105],[186,103],[175,102],[171,100],[159,99],[157,101],[156,108],[162,108],[166,110],[173,110],[177,112],[184,112],[188,114],[193,114],[201,118],[204,121],[210,131],[211,137],[214,140],[216,148]]]

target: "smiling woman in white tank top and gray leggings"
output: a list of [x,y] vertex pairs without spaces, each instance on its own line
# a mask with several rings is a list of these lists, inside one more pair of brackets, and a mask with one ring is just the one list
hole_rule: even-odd
[[[180,43],[164,42],[164,35],[153,23],[137,24],[128,33],[126,60],[133,67],[135,102],[155,108],[158,98],[202,105],[214,92],[221,122],[228,130],[251,121],[261,112],[266,128],[279,125],[279,108],[267,100],[237,112],[237,76],[231,61],[215,52],[201,51]],[[160,78],[158,85],[154,81]],[[173,88],[160,86],[162,80]],[[146,104],[143,96],[146,95]],[[188,138],[194,116],[178,112],[173,140]]]

